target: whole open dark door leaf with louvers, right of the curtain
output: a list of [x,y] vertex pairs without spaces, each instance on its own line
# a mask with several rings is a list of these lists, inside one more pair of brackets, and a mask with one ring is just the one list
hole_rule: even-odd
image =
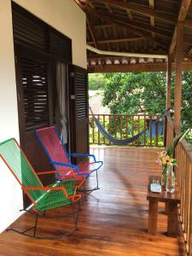
[[[70,67],[70,141],[73,152],[89,153],[88,83],[84,68]],[[78,159],[77,162],[82,159]]]

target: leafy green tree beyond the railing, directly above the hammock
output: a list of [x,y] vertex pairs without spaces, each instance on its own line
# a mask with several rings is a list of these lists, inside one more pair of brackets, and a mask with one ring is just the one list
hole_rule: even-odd
[[162,113],[166,73],[113,73],[104,87],[103,104],[111,113]]

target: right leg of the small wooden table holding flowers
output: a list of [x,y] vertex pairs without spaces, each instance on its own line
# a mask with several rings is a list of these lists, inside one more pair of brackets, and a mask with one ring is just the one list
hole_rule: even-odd
[[167,207],[167,235],[168,236],[177,236],[177,221],[178,221],[178,209],[177,204],[168,203]]

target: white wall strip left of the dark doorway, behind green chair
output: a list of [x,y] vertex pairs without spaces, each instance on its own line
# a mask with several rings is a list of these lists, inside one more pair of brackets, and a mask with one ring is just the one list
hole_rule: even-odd
[[[0,142],[19,139],[11,2],[0,0]],[[0,160],[0,232],[19,216],[20,186]]]

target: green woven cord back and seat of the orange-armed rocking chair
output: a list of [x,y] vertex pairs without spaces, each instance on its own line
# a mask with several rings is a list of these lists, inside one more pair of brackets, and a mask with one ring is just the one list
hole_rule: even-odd
[[[44,188],[14,138],[0,143],[0,155],[3,157],[3,160],[7,166],[9,166],[9,170],[15,175],[21,186],[26,187],[26,189],[27,187]],[[73,178],[51,184],[49,187],[65,188],[68,196],[73,196],[75,194]],[[37,204],[34,208],[40,211],[61,207],[71,203],[62,190],[30,189],[27,190],[27,193]]]

